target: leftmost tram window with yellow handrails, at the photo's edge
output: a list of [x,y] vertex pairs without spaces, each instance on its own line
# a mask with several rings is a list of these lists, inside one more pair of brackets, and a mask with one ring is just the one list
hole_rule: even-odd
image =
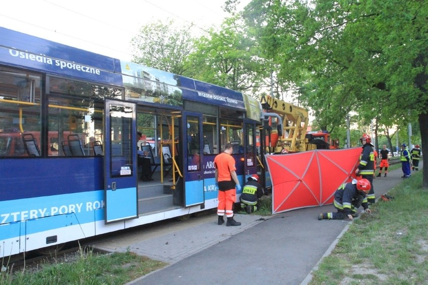
[[23,132],[32,133],[40,149],[41,76],[0,67],[0,157],[27,157]]

